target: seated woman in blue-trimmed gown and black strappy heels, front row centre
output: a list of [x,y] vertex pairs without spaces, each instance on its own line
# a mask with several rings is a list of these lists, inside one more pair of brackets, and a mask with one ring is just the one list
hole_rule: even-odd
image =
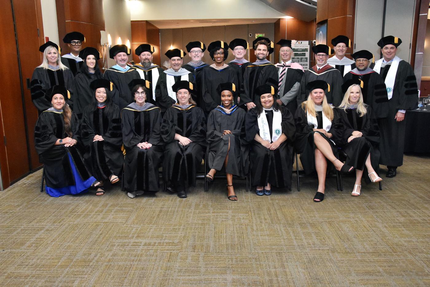
[[245,140],[245,110],[233,103],[236,93],[234,83],[221,83],[218,94],[221,105],[212,110],[208,117],[206,141],[208,147],[209,173],[206,179],[212,182],[215,173],[225,167],[228,199],[236,201],[233,189],[233,175],[244,177],[248,172],[249,147]]

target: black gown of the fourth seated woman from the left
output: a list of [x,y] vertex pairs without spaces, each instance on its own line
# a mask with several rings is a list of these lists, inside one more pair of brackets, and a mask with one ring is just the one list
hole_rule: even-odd
[[[179,145],[175,133],[192,142]],[[195,105],[183,109],[173,105],[167,109],[161,124],[161,136],[166,143],[163,178],[168,182],[196,185],[196,173],[206,148],[206,120],[201,108]]]

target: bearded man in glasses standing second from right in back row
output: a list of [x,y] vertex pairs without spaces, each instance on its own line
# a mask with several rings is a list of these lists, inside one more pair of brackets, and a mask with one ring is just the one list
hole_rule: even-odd
[[356,68],[344,76],[344,83],[347,83],[346,86],[348,87],[353,83],[361,84],[363,102],[372,108],[376,118],[387,117],[387,89],[382,77],[369,68],[369,63],[374,59],[372,53],[367,50],[361,50],[351,56],[355,60]]

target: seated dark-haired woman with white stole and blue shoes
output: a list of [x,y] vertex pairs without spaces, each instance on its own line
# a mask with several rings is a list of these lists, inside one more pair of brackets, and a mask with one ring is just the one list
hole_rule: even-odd
[[245,118],[246,140],[251,143],[251,179],[257,195],[270,195],[272,185],[291,185],[294,119],[276,102],[274,85],[259,86],[255,91],[260,101]]

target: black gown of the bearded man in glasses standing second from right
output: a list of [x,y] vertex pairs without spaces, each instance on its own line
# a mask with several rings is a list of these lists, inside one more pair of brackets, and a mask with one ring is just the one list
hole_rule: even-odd
[[363,81],[363,88],[361,89],[363,102],[372,108],[372,114],[378,119],[387,117],[389,109],[387,87],[382,77],[375,71],[364,75],[355,74],[351,71],[344,76],[344,83],[351,79]]

